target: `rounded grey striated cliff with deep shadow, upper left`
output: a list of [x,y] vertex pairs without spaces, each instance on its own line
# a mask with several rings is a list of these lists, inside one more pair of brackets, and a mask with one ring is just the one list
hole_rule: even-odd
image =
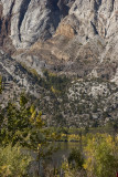
[[68,13],[66,3],[62,0],[1,0],[3,13],[9,17],[10,38],[13,45],[28,48],[39,39],[45,40],[55,32],[61,18]]

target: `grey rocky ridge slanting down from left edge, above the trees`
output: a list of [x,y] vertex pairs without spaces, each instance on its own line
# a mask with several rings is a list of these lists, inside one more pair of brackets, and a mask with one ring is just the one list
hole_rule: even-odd
[[13,100],[14,96],[19,97],[23,91],[35,97],[39,97],[42,92],[30,71],[2,51],[0,51],[0,76],[3,83],[0,103],[3,105],[7,105],[8,101]]

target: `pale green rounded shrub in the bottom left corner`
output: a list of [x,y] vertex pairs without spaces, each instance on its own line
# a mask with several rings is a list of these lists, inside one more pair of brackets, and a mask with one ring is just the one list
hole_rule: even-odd
[[21,152],[21,147],[8,145],[0,147],[0,176],[22,177],[28,176],[28,167],[32,160],[29,154]]

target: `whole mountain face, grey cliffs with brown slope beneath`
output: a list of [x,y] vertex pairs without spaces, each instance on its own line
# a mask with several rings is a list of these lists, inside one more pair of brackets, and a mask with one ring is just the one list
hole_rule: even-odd
[[[0,2],[0,44],[12,53],[14,48],[22,49],[20,55],[14,53],[17,60],[23,62],[29,55],[37,72],[42,65],[35,64],[35,59],[47,69],[61,67],[61,73],[83,76],[96,71],[114,79],[118,63],[117,0]],[[106,64],[111,66],[108,74]]]

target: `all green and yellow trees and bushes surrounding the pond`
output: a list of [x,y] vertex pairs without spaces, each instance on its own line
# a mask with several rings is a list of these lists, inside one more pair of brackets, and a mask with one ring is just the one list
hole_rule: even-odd
[[[51,77],[50,86],[55,75]],[[55,90],[60,92],[60,86],[56,85]],[[60,177],[61,171],[64,177],[116,176],[118,169],[117,119],[108,122],[103,131],[103,127],[89,128],[88,126],[85,128],[47,127],[46,121],[42,117],[42,111],[39,111],[24,93],[21,93],[19,104],[11,101],[7,107],[0,108],[1,177]],[[58,114],[58,122],[60,118],[61,114]],[[58,140],[78,142],[79,146],[72,149],[68,158],[64,159],[60,167],[49,167],[45,159],[51,158],[57,150],[54,143]],[[26,154],[25,150],[29,153]],[[32,159],[31,150],[36,154],[36,159]],[[39,167],[30,174],[33,160],[37,162]]]

